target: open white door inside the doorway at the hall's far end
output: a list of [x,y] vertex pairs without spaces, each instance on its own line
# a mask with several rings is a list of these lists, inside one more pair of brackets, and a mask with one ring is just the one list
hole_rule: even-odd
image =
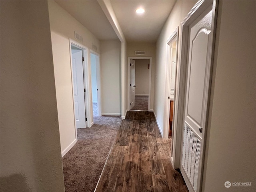
[[130,109],[135,105],[135,60],[130,60]]

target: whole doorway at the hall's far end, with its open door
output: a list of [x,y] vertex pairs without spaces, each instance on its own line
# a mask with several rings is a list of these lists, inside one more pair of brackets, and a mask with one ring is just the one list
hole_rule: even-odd
[[150,110],[151,57],[128,57],[128,109]]

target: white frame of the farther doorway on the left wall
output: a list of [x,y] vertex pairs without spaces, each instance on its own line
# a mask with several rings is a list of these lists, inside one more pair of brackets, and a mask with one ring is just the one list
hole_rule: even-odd
[[[101,115],[101,85],[100,85],[100,55],[93,51],[90,50],[90,56],[91,53],[96,55],[96,79],[97,79],[97,106],[98,106],[98,116],[102,116]],[[91,59],[90,59],[91,62]],[[90,63],[91,65],[91,63]]]

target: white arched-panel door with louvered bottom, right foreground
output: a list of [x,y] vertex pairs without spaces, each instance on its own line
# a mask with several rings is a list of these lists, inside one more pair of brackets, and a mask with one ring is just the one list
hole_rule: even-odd
[[[211,65],[212,6],[188,26],[182,167],[189,189],[199,191]],[[185,179],[186,180],[186,179]],[[192,191],[190,190],[190,191]]]

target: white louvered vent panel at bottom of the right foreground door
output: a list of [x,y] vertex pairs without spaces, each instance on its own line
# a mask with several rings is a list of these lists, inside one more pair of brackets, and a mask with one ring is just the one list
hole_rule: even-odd
[[182,166],[195,191],[197,190],[200,150],[201,141],[185,123],[182,143]]

